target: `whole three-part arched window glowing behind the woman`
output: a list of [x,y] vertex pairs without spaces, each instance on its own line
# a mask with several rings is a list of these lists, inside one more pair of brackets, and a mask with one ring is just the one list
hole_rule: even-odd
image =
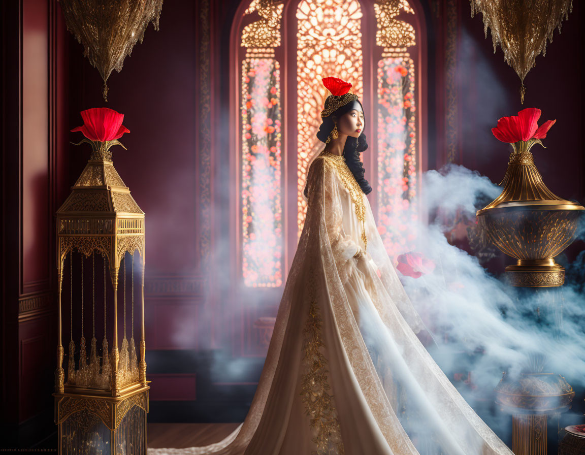
[[364,101],[370,150],[363,160],[376,188],[370,204],[388,253],[407,251],[423,139],[422,21],[411,4],[245,0],[241,8],[232,30],[238,85],[231,99],[243,284],[283,285],[304,223],[308,162],[323,147],[315,133],[328,95],[321,78],[328,75],[352,82]]

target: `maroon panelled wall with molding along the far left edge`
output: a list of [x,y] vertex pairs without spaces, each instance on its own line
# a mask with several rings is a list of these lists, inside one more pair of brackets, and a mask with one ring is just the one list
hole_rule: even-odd
[[[56,0],[2,3],[2,335],[4,443],[52,408],[56,364],[54,219],[64,169],[63,46]],[[43,422],[44,423],[44,422]],[[42,423],[41,423],[41,426]],[[50,426],[49,426],[50,428]],[[29,433],[30,434],[30,433]],[[6,437],[4,437],[6,436]],[[22,439],[22,440],[21,440]],[[25,440],[26,439],[26,440]]]

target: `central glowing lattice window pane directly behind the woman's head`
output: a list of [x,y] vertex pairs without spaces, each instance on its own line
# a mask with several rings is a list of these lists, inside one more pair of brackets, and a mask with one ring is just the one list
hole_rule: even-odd
[[357,0],[302,0],[297,8],[297,227],[301,235],[307,203],[302,191],[311,157],[323,144],[316,138],[329,94],[321,78],[351,82],[362,97],[362,9]]

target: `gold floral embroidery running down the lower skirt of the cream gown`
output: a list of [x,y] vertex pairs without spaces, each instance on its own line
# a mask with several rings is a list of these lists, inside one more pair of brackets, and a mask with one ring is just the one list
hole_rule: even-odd
[[[310,284],[309,284],[310,285]],[[301,395],[305,403],[305,412],[311,416],[311,428],[317,429],[317,436],[312,440],[317,450],[312,455],[343,455],[345,449],[341,439],[341,428],[337,419],[337,410],[333,405],[331,388],[327,381],[327,359],[319,350],[323,344],[321,339],[322,320],[315,300],[311,301],[309,316],[302,331],[304,335],[303,363],[307,373],[302,376]]]

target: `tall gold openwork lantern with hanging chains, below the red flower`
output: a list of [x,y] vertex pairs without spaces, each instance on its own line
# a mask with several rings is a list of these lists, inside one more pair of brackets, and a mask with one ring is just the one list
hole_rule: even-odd
[[[89,142],[85,140],[85,142]],[[117,141],[116,141],[117,143]],[[142,261],[135,267],[135,252]],[[131,260],[131,264],[127,262]],[[66,267],[66,264],[68,267]],[[96,264],[97,267],[96,267]],[[122,276],[119,272],[122,268]],[[89,269],[91,268],[91,281]],[[84,270],[85,269],[85,270]],[[137,301],[140,305],[140,361],[133,337],[135,269],[139,276]],[[132,270],[127,279],[127,272]],[[98,272],[98,273],[97,273]],[[100,280],[101,273],[103,280]],[[63,368],[61,344],[64,303],[63,278],[68,275],[70,291],[70,330],[67,375]],[[80,277],[75,280],[74,277]],[[96,279],[98,276],[98,279]],[[57,211],[57,277],[59,279],[59,346],[55,372],[55,423],[59,426],[59,453],[143,453],[146,454],[146,413],[150,389],[146,380],[144,342],[144,212],[113,167],[111,152],[105,147],[90,156],[71,194]],[[107,278],[107,280],[106,280]],[[121,279],[119,279],[121,278]],[[81,298],[73,298],[73,282],[81,288]],[[118,294],[123,289],[123,340],[118,347]],[[126,300],[132,287],[132,332],[126,339]],[[109,285],[111,283],[111,285]],[[96,292],[103,284],[104,338],[101,356],[95,339]],[[85,285],[85,292],[84,292]],[[87,357],[84,338],[84,310],[90,304],[92,289],[94,336]],[[86,295],[84,301],[84,294]],[[98,294],[99,296],[99,294]],[[99,296],[101,297],[101,296]],[[99,302],[101,304],[101,302]],[[98,304],[98,305],[99,305]],[[81,340],[75,350],[73,311],[81,311]],[[108,329],[106,315],[113,316]],[[87,318],[87,316],[86,316]],[[107,335],[106,335],[107,334]],[[111,353],[108,336],[111,335]],[[78,367],[75,359],[78,359]],[[131,447],[131,449],[130,449]]]

